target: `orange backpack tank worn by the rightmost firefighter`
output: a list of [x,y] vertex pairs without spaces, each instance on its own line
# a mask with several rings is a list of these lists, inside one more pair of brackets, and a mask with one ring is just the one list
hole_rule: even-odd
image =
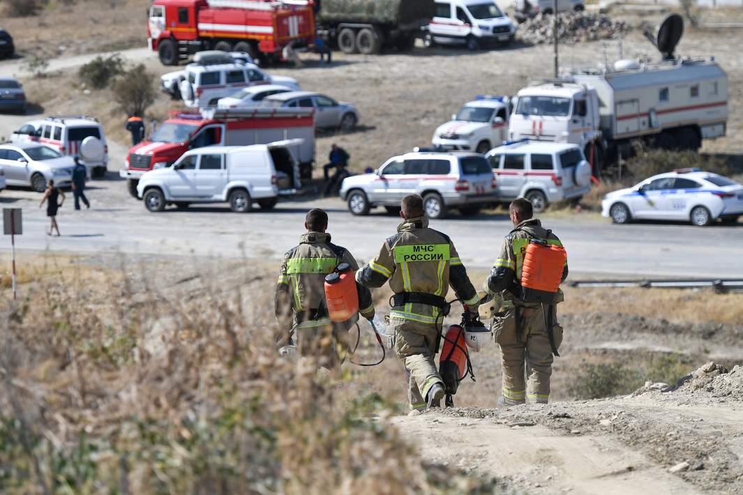
[[522,299],[531,303],[551,304],[562,281],[568,253],[562,246],[532,239],[526,248],[521,272]]

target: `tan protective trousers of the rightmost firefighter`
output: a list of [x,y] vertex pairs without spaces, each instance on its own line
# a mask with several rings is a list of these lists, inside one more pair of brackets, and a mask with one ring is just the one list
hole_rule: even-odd
[[[545,306],[548,307],[548,306]],[[562,327],[554,323],[555,346],[562,343]],[[550,397],[552,347],[542,306],[516,306],[493,319],[493,338],[501,347],[503,402],[546,404]]]

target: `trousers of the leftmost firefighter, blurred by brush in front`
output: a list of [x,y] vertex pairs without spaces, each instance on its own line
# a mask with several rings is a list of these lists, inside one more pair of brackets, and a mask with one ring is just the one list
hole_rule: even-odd
[[328,318],[304,321],[294,327],[293,338],[303,358],[313,358],[317,367],[340,370],[350,349],[348,330]]

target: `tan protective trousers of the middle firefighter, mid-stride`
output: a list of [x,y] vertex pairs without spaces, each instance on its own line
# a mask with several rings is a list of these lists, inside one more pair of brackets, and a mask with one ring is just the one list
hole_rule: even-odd
[[438,327],[435,324],[391,318],[395,332],[395,353],[403,361],[408,376],[408,400],[411,410],[424,410],[431,387],[444,385],[435,363]]

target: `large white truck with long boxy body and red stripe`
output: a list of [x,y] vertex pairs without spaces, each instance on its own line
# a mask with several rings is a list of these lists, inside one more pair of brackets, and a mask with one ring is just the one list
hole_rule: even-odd
[[714,61],[676,59],[611,71],[575,72],[519,91],[509,140],[570,142],[594,174],[641,138],[664,149],[697,150],[725,135],[727,74]]

